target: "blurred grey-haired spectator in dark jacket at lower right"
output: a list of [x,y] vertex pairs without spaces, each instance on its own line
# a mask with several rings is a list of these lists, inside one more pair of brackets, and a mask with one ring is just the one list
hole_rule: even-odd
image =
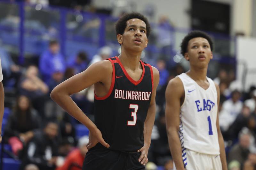
[[252,134],[249,129],[244,128],[239,133],[239,142],[235,144],[228,153],[228,164],[234,160],[243,165],[250,153],[250,145],[252,144]]

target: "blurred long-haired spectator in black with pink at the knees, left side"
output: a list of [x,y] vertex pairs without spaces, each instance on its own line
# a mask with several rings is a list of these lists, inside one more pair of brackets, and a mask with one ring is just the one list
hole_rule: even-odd
[[27,144],[34,136],[34,131],[40,124],[41,119],[32,108],[28,97],[19,96],[13,113],[8,117],[4,132],[15,155],[18,155],[23,149],[23,144]]

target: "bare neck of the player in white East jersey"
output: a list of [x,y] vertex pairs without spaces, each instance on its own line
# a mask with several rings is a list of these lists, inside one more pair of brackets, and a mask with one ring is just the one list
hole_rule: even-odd
[[190,67],[190,70],[188,70],[187,74],[189,77],[191,77],[195,81],[204,81],[206,80],[207,67],[206,68]]

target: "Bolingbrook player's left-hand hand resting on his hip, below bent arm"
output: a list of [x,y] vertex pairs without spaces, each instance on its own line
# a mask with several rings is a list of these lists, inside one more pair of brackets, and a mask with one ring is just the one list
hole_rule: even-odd
[[102,144],[103,146],[109,148],[109,144],[106,143],[102,137],[102,134],[98,128],[89,132],[89,143],[86,144],[88,150],[94,147],[97,143]]

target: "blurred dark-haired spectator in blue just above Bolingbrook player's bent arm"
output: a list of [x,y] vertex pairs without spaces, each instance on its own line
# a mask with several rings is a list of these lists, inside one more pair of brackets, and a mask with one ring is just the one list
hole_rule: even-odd
[[85,52],[79,52],[76,57],[71,57],[67,67],[74,69],[74,74],[81,73],[87,68],[88,56]]

